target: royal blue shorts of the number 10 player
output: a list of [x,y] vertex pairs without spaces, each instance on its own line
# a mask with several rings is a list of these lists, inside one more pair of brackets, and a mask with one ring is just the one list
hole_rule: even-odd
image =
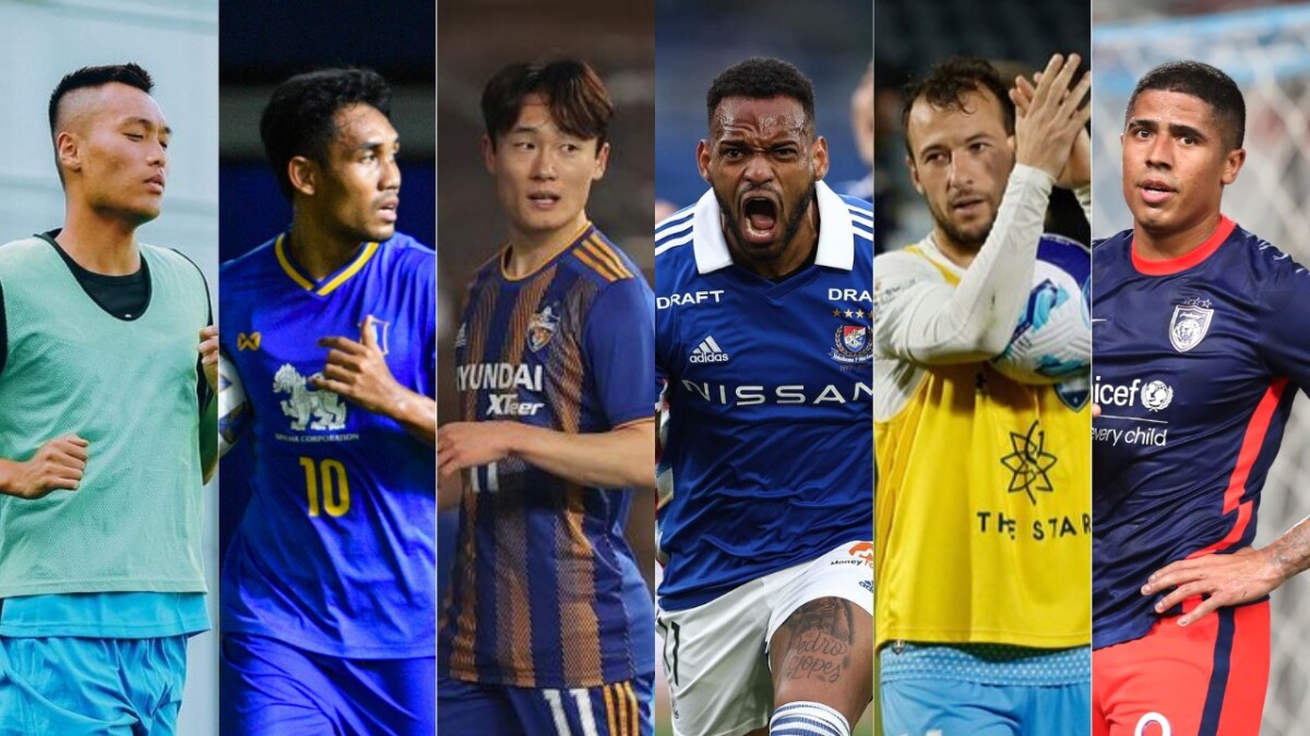
[[436,656],[343,659],[224,634],[219,723],[232,736],[432,736]]

